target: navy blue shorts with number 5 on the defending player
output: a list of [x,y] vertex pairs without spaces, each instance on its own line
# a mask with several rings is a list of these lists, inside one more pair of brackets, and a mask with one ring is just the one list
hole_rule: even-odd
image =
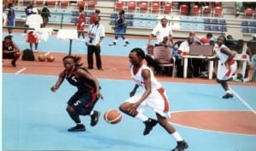
[[95,93],[76,92],[68,100],[67,104],[70,105],[78,115],[90,115],[97,100],[98,98],[95,97]]

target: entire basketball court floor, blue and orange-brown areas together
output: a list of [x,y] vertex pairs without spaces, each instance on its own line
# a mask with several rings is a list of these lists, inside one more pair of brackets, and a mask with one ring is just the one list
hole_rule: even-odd
[[[14,36],[20,50],[28,48],[25,38],[19,33]],[[102,86],[104,99],[95,107],[102,115],[108,109],[118,109],[129,97],[135,83],[130,79],[127,55],[131,48],[143,48],[148,40],[131,39],[126,48],[121,39],[116,47],[109,47],[111,42],[113,37],[103,40],[104,70],[90,70]],[[69,44],[55,36],[39,43],[39,53],[54,54],[52,63],[19,60],[13,68],[9,60],[3,61],[3,150],[166,151],[176,146],[160,125],[143,136],[143,123],[127,115],[115,125],[101,115],[95,127],[90,126],[89,116],[81,116],[86,131],[67,131],[74,126],[66,112],[67,100],[76,88],[67,81],[57,92],[49,87],[63,70],[61,59],[67,55]],[[84,42],[72,42],[72,53],[83,57],[84,66],[86,52]],[[230,82],[235,97],[222,99],[224,91],[214,80],[157,78],[170,101],[170,122],[189,143],[188,151],[256,151],[255,82]],[[145,115],[155,118],[151,109]]]

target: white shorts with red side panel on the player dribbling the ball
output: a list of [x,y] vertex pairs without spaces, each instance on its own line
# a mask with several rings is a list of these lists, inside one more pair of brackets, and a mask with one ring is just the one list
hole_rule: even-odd
[[[131,98],[125,100],[128,103],[136,103],[141,97],[143,96],[142,93],[138,93]],[[166,90],[164,88],[160,88],[157,90],[152,90],[149,94],[148,98],[146,98],[143,103],[137,108],[139,113],[143,113],[146,107],[150,107],[154,110],[155,113],[158,113],[161,116],[166,118],[170,117],[169,113],[169,101],[166,95]]]

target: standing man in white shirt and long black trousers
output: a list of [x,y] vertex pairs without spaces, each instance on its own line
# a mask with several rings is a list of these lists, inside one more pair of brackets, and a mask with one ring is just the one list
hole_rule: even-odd
[[88,69],[93,69],[93,53],[96,55],[96,67],[98,70],[102,69],[102,59],[101,59],[101,45],[102,39],[105,37],[105,28],[100,24],[101,17],[96,16],[94,24],[89,25],[88,34],[89,42],[85,42],[87,46],[87,62]]

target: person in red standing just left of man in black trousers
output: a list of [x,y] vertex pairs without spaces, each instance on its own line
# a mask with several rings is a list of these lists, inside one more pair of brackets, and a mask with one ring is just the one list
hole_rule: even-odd
[[78,30],[78,37],[82,35],[81,41],[85,41],[84,36],[84,27],[85,27],[85,13],[84,13],[84,7],[79,7],[79,19],[77,22],[77,30]]

